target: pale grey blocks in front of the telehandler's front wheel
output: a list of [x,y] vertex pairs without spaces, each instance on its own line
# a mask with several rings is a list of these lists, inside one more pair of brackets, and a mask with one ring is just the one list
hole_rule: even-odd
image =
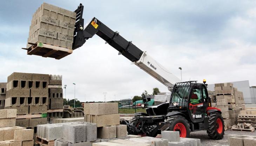
[[167,139],[168,146],[201,146],[200,139],[197,138],[180,138],[180,132],[178,131],[162,131],[162,139]]

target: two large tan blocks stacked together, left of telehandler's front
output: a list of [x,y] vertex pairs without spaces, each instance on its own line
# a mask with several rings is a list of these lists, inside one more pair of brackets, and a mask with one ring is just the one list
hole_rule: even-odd
[[97,127],[120,124],[118,103],[86,103],[84,113],[85,121],[96,123]]

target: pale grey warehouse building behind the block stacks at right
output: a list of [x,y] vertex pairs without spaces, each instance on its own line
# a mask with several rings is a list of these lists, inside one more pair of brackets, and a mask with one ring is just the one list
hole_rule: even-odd
[[[250,87],[248,80],[230,83],[233,83],[233,86],[236,87],[238,91],[243,92],[245,104],[256,103],[256,88]],[[214,84],[209,84],[207,89],[214,91]]]

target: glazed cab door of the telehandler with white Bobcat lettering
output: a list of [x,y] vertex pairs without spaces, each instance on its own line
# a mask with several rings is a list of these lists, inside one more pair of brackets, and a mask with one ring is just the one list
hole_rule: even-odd
[[204,105],[203,87],[201,84],[195,84],[190,92],[189,112],[192,121],[201,122],[204,120],[205,105]]

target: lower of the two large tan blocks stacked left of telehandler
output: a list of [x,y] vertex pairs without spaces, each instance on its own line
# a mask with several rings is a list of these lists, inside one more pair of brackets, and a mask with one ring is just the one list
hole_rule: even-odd
[[96,123],[97,127],[119,125],[120,115],[117,114],[105,114],[105,115],[90,115],[90,123]]

